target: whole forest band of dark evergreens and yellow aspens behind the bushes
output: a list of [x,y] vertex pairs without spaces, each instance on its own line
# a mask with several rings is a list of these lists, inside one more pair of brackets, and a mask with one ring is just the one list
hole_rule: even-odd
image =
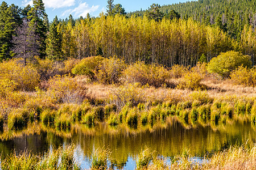
[[[0,60],[21,57],[26,64],[34,56],[54,61],[117,56],[127,63],[139,60],[195,66],[221,52],[236,50],[249,55],[254,64],[255,2],[235,2],[210,0],[163,7],[153,4],[145,16],[128,17],[122,5],[115,6],[112,1],[113,10],[96,18],[88,14],[86,18],[73,19],[70,15],[69,19],[60,20],[56,16],[51,23],[42,0],[23,9],[2,2]],[[161,10],[168,14],[164,16]],[[193,17],[185,18],[186,14]],[[235,16],[240,19],[233,19]],[[202,24],[211,20],[212,24]]]

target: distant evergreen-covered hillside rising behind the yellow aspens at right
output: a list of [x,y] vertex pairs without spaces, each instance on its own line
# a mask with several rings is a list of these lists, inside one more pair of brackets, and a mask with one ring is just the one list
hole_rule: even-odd
[[[149,8],[150,10],[150,8]],[[246,24],[253,28],[256,25],[256,1],[251,0],[199,0],[185,3],[175,3],[161,6],[159,11],[168,14],[178,12],[182,19],[192,18],[197,22],[215,25],[227,32],[234,39],[241,38],[241,32]],[[143,16],[147,10],[127,14]]]

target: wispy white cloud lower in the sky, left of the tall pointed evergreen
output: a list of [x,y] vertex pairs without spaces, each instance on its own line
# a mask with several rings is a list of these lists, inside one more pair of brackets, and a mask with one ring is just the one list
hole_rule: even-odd
[[100,7],[100,6],[93,5],[92,7],[89,7],[88,3],[84,2],[84,3],[80,3],[79,6],[73,10],[69,9],[69,10],[64,11],[61,16],[67,16],[69,14],[73,14],[76,17],[79,17],[79,16],[85,17],[88,13],[97,11],[98,7]]

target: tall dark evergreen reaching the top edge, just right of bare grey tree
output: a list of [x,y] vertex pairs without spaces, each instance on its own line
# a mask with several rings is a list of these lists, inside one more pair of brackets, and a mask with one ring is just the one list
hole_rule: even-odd
[[42,0],[33,0],[34,7],[28,12],[30,29],[34,29],[39,36],[39,54],[41,58],[46,56],[46,35],[48,31],[48,16]]

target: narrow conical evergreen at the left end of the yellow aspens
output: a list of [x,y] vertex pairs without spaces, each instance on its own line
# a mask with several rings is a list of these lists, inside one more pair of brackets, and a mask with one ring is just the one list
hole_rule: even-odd
[[49,27],[47,36],[47,57],[54,60],[61,60],[63,55],[61,53],[61,34],[58,30],[59,21],[57,16]]

